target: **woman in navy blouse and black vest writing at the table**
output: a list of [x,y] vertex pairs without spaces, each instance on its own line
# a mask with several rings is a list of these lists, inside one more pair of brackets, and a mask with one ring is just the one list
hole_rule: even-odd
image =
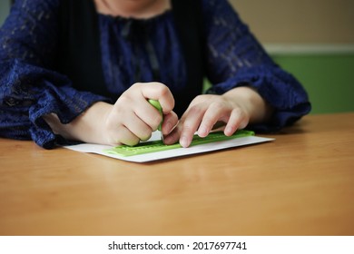
[[183,147],[220,122],[269,132],[310,112],[226,0],[17,0],[0,47],[0,135],[44,148],[145,141],[162,121],[147,99]]

